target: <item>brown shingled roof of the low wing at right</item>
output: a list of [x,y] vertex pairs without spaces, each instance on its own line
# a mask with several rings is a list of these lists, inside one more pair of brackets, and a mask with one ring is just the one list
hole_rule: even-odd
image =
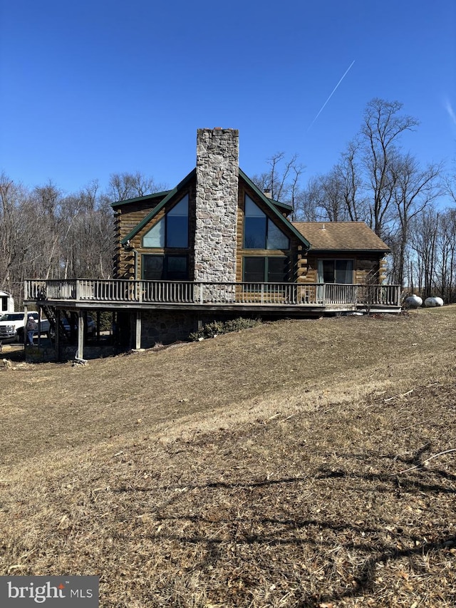
[[364,222],[293,222],[311,251],[377,251],[390,248]]

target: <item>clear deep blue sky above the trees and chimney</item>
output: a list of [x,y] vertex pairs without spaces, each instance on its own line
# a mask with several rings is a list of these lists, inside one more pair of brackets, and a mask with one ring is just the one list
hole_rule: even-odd
[[454,0],[0,7],[0,171],[30,187],[137,170],[173,187],[195,166],[197,128],[216,126],[239,129],[248,175],[298,153],[305,183],[373,97],[420,120],[403,143],[422,163],[456,158]]

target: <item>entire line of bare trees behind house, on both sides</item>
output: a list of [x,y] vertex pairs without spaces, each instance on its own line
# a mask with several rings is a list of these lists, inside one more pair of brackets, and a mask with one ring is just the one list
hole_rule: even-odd
[[[297,155],[276,153],[252,179],[274,200],[288,202],[292,220],[366,222],[391,249],[388,279],[423,296],[456,302],[456,174],[442,163],[420,165],[403,151],[418,128],[397,101],[366,105],[361,129],[340,160],[303,185]],[[0,289],[23,299],[26,278],[113,276],[111,203],[165,190],[140,172],[115,173],[66,194],[53,182],[33,188],[0,175]]]

